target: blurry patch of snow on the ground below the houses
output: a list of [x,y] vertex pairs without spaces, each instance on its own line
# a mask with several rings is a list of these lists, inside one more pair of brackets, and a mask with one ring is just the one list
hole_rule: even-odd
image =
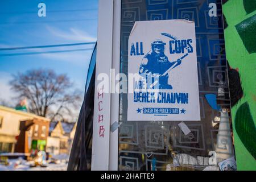
[[32,162],[27,160],[19,159],[9,159],[9,166],[0,164],[0,171],[66,171],[67,170],[67,156],[55,156],[59,157],[56,163],[47,163],[47,167],[30,167]]

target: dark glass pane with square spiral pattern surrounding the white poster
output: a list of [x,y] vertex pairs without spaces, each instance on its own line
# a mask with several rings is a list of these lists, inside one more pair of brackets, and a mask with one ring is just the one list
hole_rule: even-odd
[[[217,16],[209,17],[209,2]],[[135,21],[187,19],[195,22],[201,121],[185,121],[184,135],[178,121],[127,121],[127,94],[119,102],[119,170],[203,170],[209,152],[217,162],[233,156],[229,90],[222,26],[221,1],[122,0],[121,73],[127,75],[128,38]],[[214,110],[206,96],[214,94],[222,111]],[[221,124],[220,124],[221,122]]]

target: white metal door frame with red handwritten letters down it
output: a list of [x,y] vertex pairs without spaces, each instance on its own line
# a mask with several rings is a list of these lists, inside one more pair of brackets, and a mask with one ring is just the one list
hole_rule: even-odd
[[[120,34],[121,0],[99,0],[92,171],[118,170],[119,129],[117,128],[113,132],[110,129],[114,122],[119,124],[119,94],[115,93],[115,85],[119,80],[115,80],[115,76],[120,69]],[[114,73],[111,72],[111,69],[114,69]],[[108,75],[108,85],[104,86],[109,88],[110,93],[104,93],[103,97],[100,94],[98,97],[98,85],[101,80],[97,78],[101,73]],[[99,117],[100,122],[98,122]],[[104,137],[100,137],[100,126],[105,129]]]

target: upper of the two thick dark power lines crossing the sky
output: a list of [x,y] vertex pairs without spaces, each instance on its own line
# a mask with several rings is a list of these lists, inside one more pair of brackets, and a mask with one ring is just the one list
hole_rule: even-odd
[[48,47],[80,46],[80,45],[88,45],[88,44],[96,44],[96,42],[84,42],[84,43],[75,43],[75,44],[55,44],[55,45],[47,45],[47,46],[7,47],[7,48],[0,48],[0,51],[9,51],[9,50],[18,50],[18,49],[48,48]]

